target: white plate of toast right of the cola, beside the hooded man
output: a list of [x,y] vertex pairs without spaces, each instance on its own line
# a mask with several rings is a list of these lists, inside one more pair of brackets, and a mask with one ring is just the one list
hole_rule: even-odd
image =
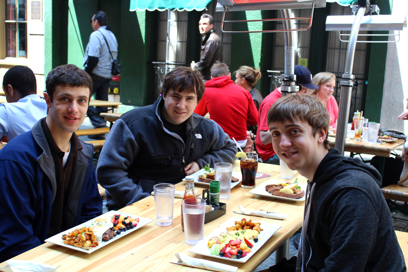
[[278,180],[269,180],[256,188],[249,191],[249,193],[257,194],[271,199],[301,202],[305,199],[305,190],[307,184],[295,182],[284,182]]

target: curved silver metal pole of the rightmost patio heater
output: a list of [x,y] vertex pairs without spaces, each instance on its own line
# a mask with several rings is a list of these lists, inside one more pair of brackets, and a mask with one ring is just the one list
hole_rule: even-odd
[[341,154],[344,154],[344,144],[346,141],[347,133],[347,121],[350,113],[350,103],[351,103],[351,90],[353,88],[353,62],[354,62],[354,52],[355,44],[357,42],[357,37],[359,34],[360,24],[363,20],[364,13],[366,12],[366,7],[360,7],[359,11],[355,15],[354,23],[351,28],[350,39],[348,42],[347,48],[347,58],[346,58],[346,67],[342,75],[342,81],[340,82],[341,92],[340,92],[340,109],[339,109],[339,118],[337,122],[336,130],[336,142],[335,147],[340,151]]

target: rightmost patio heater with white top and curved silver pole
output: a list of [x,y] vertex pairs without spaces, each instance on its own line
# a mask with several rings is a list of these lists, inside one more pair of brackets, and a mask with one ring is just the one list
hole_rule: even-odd
[[[377,15],[373,15],[377,13]],[[355,45],[357,42],[366,43],[389,43],[399,40],[399,31],[406,28],[406,16],[379,15],[379,8],[376,5],[370,5],[369,0],[359,0],[357,5],[353,6],[353,14],[347,16],[327,16],[326,31],[339,31],[339,38],[342,42],[348,42],[346,67],[340,82],[340,109],[336,130],[335,147],[344,154],[344,144],[346,139],[347,120],[350,113],[351,90],[354,75],[352,74]],[[398,31],[398,34],[360,34],[362,31]],[[351,31],[350,34],[342,34],[341,31]],[[348,40],[343,40],[343,36],[348,36]],[[359,36],[396,36],[396,41],[358,41]]]

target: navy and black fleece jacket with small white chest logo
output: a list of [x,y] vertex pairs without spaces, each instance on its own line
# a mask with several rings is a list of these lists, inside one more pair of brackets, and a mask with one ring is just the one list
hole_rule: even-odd
[[235,161],[237,147],[213,120],[193,113],[186,121],[187,142],[163,126],[162,97],[118,119],[98,159],[96,176],[106,189],[107,207],[118,209],[149,196],[158,183],[179,183],[195,161],[211,167]]

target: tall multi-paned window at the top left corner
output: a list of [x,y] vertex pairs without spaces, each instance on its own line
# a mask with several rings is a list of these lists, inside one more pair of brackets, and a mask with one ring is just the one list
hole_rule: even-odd
[[27,58],[27,0],[6,0],[6,57]]

